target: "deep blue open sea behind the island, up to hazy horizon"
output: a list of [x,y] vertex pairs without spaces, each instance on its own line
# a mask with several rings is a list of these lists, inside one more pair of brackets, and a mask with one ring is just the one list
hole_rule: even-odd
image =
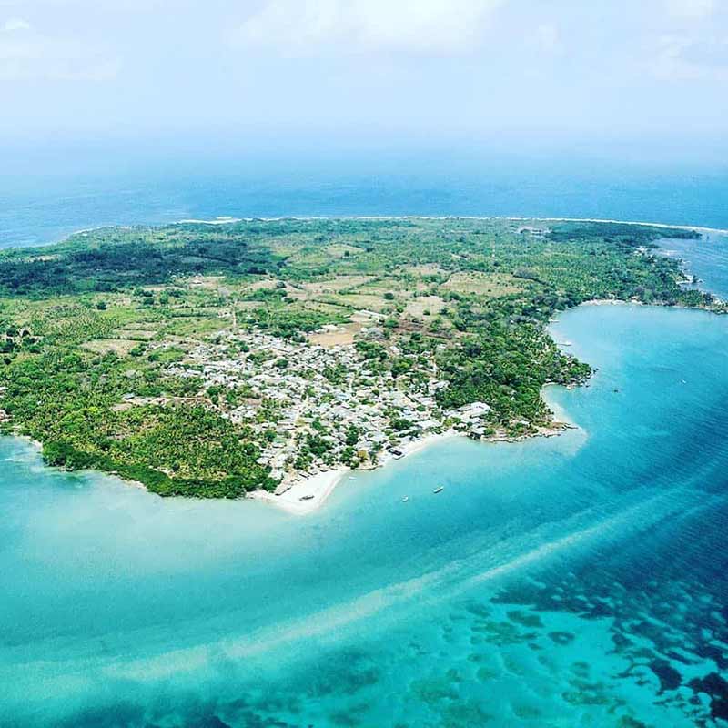
[[[209,140],[210,145],[214,140]],[[728,229],[728,169],[630,154],[473,147],[277,155],[165,147],[0,145],[0,248],[87,227],[183,218],[466,215],[598,217]],[[19,157],[19,158],[18,158]]]

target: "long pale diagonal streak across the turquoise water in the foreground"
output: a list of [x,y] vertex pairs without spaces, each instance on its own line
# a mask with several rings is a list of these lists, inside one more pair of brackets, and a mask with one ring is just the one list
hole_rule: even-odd
[[[723,498],[713,497],[696,503],[696,495],[695,490],[681,488],[652,495],[608,517],[602,517],[598,511],[580,513],[566,523],[545,524],[524,536],[512,537],[495,547],[491,545],[485,551],[478,551],[478,541],[471,542],[471,551],[475,553],[415,578],[389,584],[352,601],[242,637],[115,665],[111,667],[110,674],[129,679],[142,676],[148,679],[152,674],[162,678],[179,668],[187,670],[204,666],[210,651],[240,661],[306,640],[337,643],[341,640],[342,631],[375,616],[379,619],[378,623],[383,624],[385,612],[397,612],[397,607],[407,608],[416,604],[420,611],[424,603],[437,606],[450,602],[480,589],[484,584],[495,589],[507,579],[520,577],[525,571],[548,566],[552,560],[588,557],[594,549],[631,540],[642,531],[651,530],[663,519],[674,521],[685,514],[694,517],[696,509],[710,509],[713,501],[723,501]],[[591,521],[584,522],[585,516]],[[569,531],[564,533],[564,527]],[[554,533],[557,529],[561,533]],[[538,545],[534,546],[534,543]],[[397,612],[390,614],[387,621],[400,622],[406,617],[407,613]]]

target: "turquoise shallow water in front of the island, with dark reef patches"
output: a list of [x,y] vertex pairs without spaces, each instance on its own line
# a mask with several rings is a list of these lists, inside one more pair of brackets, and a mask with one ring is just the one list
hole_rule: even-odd
[[728,317],[553,332],[599,368],[549,392],[578,429],[446,440],[305,518],[0,440],[0,724],[728,725]]

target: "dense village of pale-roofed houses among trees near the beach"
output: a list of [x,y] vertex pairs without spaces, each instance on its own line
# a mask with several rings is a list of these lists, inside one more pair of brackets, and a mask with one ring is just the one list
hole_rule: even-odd
[[[362,336],[368,333],[363,329]],[[389,352],[400,354],[393,344]],[[226,331],[167,374],[198,377],[206,391],[223,392],[223,416],[255,433],[258,462],[271,468],[282,493],[342,466],[376,468],[430,435],[459,431],[480,438],[489,431],[488,404],[441,410],[435,395],[448,383],[434,360],[422,367],[410,358],[410,376],[395,379],[389,369],[371,368],[356,343],[326,347],[257,330]]]

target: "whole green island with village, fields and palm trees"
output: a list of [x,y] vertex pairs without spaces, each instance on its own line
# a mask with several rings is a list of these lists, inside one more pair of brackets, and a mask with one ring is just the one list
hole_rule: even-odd
[[668,236],[700,233],[250,219],[5,250],[2,431],[37,441],[49,465],[162,496],[297,500],[311,479],[432,437],[551,435],[564,424],[544,385],[591,375],[551,339],[556,313],[594,300],[724,310],[659,254]]

